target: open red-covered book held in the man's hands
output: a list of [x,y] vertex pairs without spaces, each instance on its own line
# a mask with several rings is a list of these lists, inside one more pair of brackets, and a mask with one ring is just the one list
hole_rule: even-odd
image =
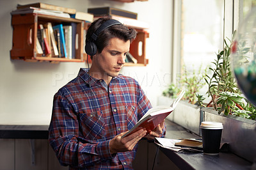
[[179,96],[170,106],[159,105],[149,109],[146,114],[136,123],[136,125],[129,130],[129,132],[122,135],[122,138],[140,130],[141,128],[147,129],[147,134],[154,130],[154,128],[156,128],[159,123],[163,122],[164,119],[175,109],[184,93],[185,91],[182,90]]

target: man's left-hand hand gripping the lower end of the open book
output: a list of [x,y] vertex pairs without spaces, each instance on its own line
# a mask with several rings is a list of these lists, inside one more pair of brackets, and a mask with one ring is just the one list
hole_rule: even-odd
[[109,142],[109,150],[110,153],[117,153],[117,152],[124,152],[124,151],[131,151],[136,143],[140,141],[142,137],[147,134],[147,130],[138,130],[131,135],[128,135],[124,138],[121,138],[126,132],[116,135],[111,141]]

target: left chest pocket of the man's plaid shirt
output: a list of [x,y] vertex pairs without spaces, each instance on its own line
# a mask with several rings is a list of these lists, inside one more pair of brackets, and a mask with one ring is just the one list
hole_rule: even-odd
[[81,133],[85,139],[102,139],[106,135],[102,111],[79,114]]

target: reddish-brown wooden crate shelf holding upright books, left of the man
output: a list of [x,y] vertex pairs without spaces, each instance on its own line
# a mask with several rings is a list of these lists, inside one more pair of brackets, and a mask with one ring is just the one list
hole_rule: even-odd
[[[36,52],[36,37],[38,24],[51,22],[52,26],[57,24],[76,24],[76,56],[74,59],[40,57],[42,54]],[[58,61],[58,62],[82,62],[84,60],[84,29],[87,24],[83,20],[72,18],[55,17],[28,13],[23,15],[12,15],[13,46],[10,51],[12,59],[23,59],[25,61]]]

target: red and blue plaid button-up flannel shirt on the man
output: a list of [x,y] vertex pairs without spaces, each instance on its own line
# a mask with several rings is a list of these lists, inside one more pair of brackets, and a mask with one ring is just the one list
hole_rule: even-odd
[[49,142],[61,165],[70,169],[132,169],[138,144],[111,155],[109,141],[130,130],[150,102],[131,77],[113,77],[108,88],[87,72],[81,69],[54,95]]

